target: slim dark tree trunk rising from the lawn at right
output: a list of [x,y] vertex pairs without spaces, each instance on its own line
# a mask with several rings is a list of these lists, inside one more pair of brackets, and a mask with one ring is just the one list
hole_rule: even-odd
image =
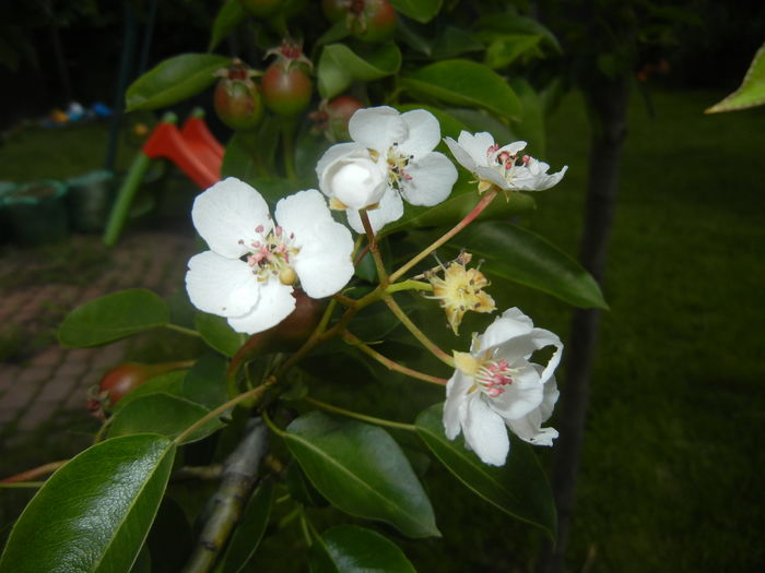
[[[602,284],[605,254],[613,222],[619,162],[626,135],[628,79],[603,80],[585,88],[592,135],[585,229],[579,258]],[[540,572],[561,573],[568,545],[581,440],[585,431],[592,357],[597,347],[600,311],[577,310],[572,321],[566,357],[566,379],[556,427],[561,431],[554,454],[553,494],[557,506],[557,541],[545,547]]]

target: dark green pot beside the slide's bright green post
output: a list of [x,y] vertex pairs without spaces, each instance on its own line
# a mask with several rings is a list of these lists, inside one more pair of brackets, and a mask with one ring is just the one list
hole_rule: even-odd
[[67,207],[72,229],[101,232],[106,227],[114,200],[114,174],[91,171],[67,181]]

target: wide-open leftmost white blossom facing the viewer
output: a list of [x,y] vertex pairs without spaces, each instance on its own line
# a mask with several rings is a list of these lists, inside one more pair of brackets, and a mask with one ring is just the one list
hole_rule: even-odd
[[191,218],[210,250],[189,261],[189,299],[237,332],[284,320],[295,308],[297,279],[306,295],[322,298],[353,276],[351,232],[315,189],[279,201],[274,223],[260,193],[229,177],[197,196]]

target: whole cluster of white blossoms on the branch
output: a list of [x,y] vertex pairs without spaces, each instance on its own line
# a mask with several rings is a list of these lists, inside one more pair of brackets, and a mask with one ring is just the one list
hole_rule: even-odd
[[[330,147],[316,167],[329,205],[315,189],[299,191],[279,201],[272,218],[261,194],[235,178],[196,199],[191,216],[210,250],[189,261],[186,287],[195,307],[224,317],[237,332],[268,330],[294,310],[295,288],[323,298],[353,276],[351,232],[330,208],[344,210],[357,232],[365,231],[360,212],[366,213],[377,232],[403,215],[403,200],[432,206],[449,196],[457,169],[434,151],[440,128],[428,111],[361,109],[349,132],[353,141]],[[481,192],[492,187],[505,192],[549,189],[566,171],[549,175],[548,164],[519,157],[526,142],[499,147],[489,133],[464,131],[458,141],[445,141],[478,178]],[[529,362],[534,350],[546,346],[555,348],[546,366]],[[541,425],[557,399],[553,371],[561,351],[553,333],[536,329],[518,309],[505,311],[474,336],[470,353],[455,353],[457,369],[444,408],[447,437],[454,440],[462,432],[468,447],[493,465],[504,464],[509,451],[505,427],[530,443],[551,445],[557,432]]]

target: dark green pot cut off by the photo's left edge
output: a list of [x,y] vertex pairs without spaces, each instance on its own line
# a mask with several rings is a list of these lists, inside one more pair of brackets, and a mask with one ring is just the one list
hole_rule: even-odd
[[35,246],[63,239],[69,232],[67,186],[54,179],[23,183],[3,195],[3,211],[14,242]]

